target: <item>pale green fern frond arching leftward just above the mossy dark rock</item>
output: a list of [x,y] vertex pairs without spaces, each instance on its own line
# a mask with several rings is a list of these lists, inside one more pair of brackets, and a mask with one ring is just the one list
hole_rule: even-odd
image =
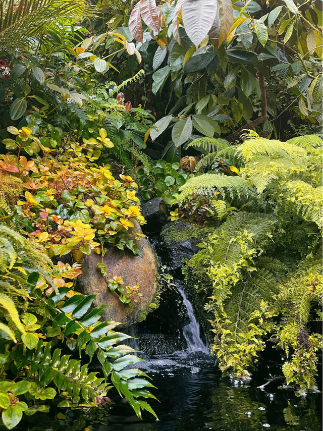
[[180,187],[178,203],[190,199],[192,196],[248,196],[250,189],[241,177],[227,177],[225,175],[203,174],[190,178]]

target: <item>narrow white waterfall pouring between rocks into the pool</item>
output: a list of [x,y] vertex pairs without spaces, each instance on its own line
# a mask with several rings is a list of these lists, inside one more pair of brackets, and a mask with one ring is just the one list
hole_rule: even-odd
[[183,304],[187,308],[187,314],[190,319],[189,324],[183,327],[183,335],[187,343],[189,352],[208,352],[207,346],[203,343],[200,336],[200,326],[194,315],[193,306],[187,299],[186,294],[182,287],[177,284],[177,290],[182,295]]

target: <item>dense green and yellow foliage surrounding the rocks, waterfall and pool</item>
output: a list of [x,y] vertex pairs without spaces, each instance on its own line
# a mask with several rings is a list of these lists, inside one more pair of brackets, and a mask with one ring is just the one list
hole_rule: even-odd
[[[191,224],[165,228],[170,244],[203,238],[184,272],[205,302],[222,370],[248,375],[272,343],[287,384],[301,393],[315,385],[322,18],[317,2],[229,2],[226,13],[223,4],[142,0],[131,13],[118,0],[0,2],[7,428],[48,412],[51,400],[94,407],[111,402],[109,391],[139,417],[155,415],[153,384],[126,368],[140,360],[120,344],[129,336],[102,318],[109,304],[94,307],[94,295],[77,291],[82,256],[98,253],[106,288],[135,306],[140,286],[110,279],[103,256],[109,247],[138,254],[139,201],[153,197],[165,200],[170,222]],[[243,136],[244,126],[256,132]]]

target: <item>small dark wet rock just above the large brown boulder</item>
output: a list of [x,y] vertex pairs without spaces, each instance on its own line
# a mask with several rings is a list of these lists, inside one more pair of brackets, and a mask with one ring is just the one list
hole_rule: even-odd
[[158,232],[168,218],[168,208],[163,198],[154,197],[141,205],[141,213],[147,221],[145,232]]

